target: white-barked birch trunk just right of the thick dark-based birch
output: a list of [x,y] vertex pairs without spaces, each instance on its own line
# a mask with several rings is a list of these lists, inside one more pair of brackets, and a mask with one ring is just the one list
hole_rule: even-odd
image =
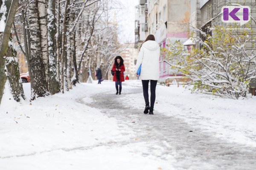
[[49,84],[49,57],[48,57],[48,40],[47,40],[47,0],[38,0],[38,19],[40,26],[40,40],[44,71]]

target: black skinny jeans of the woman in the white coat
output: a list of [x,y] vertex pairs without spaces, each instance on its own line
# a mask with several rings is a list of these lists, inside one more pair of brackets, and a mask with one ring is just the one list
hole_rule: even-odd
[[[149,105],[148,100],[148,83],[149,80],[141,80],[142,81],[142,87],[143,87],[143,96],[145,99],[145,103]],[[151,106],[150,108],[154,108],[154,102],[156,100],[156,87],[157,87],[157,80],[150,80],[150,102]]]

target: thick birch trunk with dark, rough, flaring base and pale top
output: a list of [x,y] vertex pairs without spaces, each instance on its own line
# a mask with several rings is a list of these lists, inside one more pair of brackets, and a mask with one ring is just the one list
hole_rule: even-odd
[[29,3],[29,26],[31,40],[31,68],[34,79],[34,89],[31,91],[31,99],[48,95],[47,81],[41,52],[40,26],[38,21],[38,0]]

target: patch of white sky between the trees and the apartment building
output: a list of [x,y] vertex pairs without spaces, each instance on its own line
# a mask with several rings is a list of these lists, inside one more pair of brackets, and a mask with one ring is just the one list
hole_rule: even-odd
[[119,0],[122,3],[122,9],[116,11],[116,20],[119,27],[119,42],[134,42],[134,20],[135,6],[139,0]]

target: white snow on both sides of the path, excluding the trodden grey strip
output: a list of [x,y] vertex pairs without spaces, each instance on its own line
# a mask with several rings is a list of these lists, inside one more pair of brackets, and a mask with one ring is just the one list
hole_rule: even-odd
[[[132,142],[137,134],[129,125],[120,125],[104,110],[86,105],[96,102],[92,98],[94,94],[113,93],[116,97],[113,82],[104,81],[102,85],[82,83],[65,94],[32,102],[29,101],[29,83],[23,87],[25,101],[15,102],[5,89],[0,105],[0,170],[175,169],[175,153],[168,153],[163,158],[160,146],[151,142]],[[143,114],[142,89],[141,93],[129,94],[134,88],[141,88],[141,82],[125,82],[123,93],[118,97],[125,107],[137,108]],[[158,85],[155,114],[146,116],[164,113],[214,137],[256,147],[255,103],[255,97],[221,99],[191,94],[175,85]],[[148,149],[150,147],[154,152]]]

